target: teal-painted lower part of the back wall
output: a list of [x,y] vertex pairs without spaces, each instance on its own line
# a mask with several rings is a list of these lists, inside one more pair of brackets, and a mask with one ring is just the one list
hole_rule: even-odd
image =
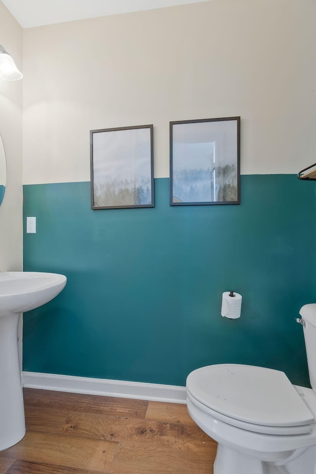
[[[307,385],[299,309],[316,300],[316,198],[294,175],[241,176],[241,204],[90,209],[90,183],[24,186],[24,270],[67,276],[24,314],[24,370],[185,385],[224,362]],[[224,291],[241,317],[221,316]]]

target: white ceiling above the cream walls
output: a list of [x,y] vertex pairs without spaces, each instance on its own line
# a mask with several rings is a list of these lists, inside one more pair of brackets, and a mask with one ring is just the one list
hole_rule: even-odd
[[2,0],[22,28],[206,0]]

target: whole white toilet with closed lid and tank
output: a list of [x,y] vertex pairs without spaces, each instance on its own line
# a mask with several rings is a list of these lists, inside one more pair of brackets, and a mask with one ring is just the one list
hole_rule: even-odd
[[189,414],[218,442],[214,474],[316,474],[316,304],[300,315],[313,389],[251,365],[189,374]]

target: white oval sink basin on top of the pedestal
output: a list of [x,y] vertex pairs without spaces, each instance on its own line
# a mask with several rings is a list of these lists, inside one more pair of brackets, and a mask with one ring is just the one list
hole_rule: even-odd
[[41,272],[0,273],[0,317],[25,313],[48,303],[64,288],[64,275]]

